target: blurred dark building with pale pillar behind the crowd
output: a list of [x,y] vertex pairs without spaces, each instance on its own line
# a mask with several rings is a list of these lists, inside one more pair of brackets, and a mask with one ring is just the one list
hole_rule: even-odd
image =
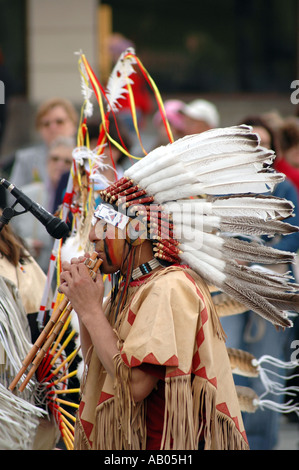
[[76,51],[105,82],[112,34],[130,39],[164,99],[212,100],[222,125],[246,114],[294,114],[298,0],[0,0],[0,159],[34,139],[36,106],[81,105]]

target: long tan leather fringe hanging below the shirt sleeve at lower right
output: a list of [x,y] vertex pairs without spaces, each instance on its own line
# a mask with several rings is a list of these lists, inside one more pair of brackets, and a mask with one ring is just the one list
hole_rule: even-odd
[[[190,376],[167,378],[162,450],[248,450],[234,421],[216,409],[216,390],[206,380]],[[199,417],[204,417],[203,421]]]

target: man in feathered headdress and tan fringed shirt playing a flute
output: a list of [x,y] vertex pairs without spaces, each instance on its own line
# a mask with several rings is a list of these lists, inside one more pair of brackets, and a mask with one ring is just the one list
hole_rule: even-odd
[[[241,169],[221,163],[217,171],[215,155],[223,160],[228,152]],[[287,201],[246,190],[266,192],[281,178],[264,166],[271,158],[250,128],[218,129],[154,150],[100,192],[90,241],[102,272],[115,278],[111,296],[103,305],[101,275],[90,280],[85,258],[61,273],[87,371],[75,448],[248,448],[208,284],[239,311],[255,308],[274,325],[291,326],[285,311],[298,308],[296,287],[235,261],[293,256],[232,235],[295,230],[281,221],[292,211]],[[228,187],[233,195],[221,196]]]

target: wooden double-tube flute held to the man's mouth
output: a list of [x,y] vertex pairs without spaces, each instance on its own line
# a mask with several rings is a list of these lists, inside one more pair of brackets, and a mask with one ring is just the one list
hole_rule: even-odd
[[[89,273],[92,279],[95,278],[96,273],[103,262],[97,256],[97,252],[93,252],[91,257],[85,260],[85,264],[89,268]],[[16,385],[21,380],[22,376],[25,374],[26,370],[32,363],[32,366],[29,369],[26,378],[19,387],[19,391],[22,392],[25,389],[33,374],[36,372],[38,366],[42,362],[44,356],[47,354],[47,351],[51,347],[53,341],[58,336],[71,311],[72,305],[69,300],[64,297],[59,303],[59,305],[53,310],[48,323],[45,325],[44,329],[42,330],[34,345],[25,357],[21,369],[19,370],[19,372],[8,387],[9,390],[13,391],[15,389]]]

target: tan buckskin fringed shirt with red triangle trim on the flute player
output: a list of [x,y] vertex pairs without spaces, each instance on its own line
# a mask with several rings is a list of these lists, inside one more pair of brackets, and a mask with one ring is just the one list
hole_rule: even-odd
[[[109,303],[107,312],[119,338],[116,378],[91,348],[75,449],[248,449],[225,336],[194,271],[172,266],[133,281],[117,319]],[[140,403],[132,367],[159,378]]]

